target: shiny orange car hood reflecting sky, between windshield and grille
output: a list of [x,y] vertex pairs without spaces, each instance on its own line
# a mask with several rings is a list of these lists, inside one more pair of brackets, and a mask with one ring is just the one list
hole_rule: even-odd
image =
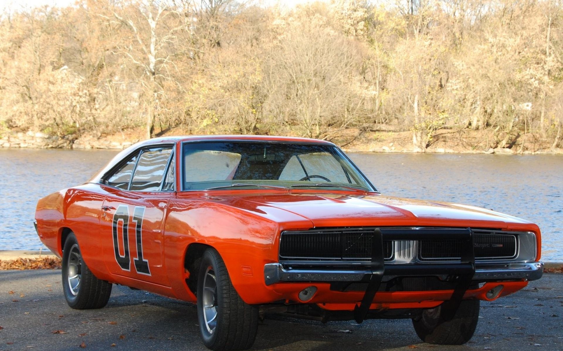
[[[373,195],[270,194],[211,197],[282,222],[280,212],[331,226],[471,226],[517,229],[533,225],[517,217],[462,204]],[[283,211],[279,211],[279,210]],[[288,213],[287,213],[288,214]]]

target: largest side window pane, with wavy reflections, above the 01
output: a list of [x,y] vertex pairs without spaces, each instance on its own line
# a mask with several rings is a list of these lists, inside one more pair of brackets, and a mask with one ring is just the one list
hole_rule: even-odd
[[158,192],[171,152],[172,148],[152,148],[142,151],[129,190]]

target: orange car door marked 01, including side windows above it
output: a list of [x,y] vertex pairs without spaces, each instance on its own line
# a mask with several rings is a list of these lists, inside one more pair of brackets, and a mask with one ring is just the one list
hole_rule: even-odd
[[169,286],[163,265],[163,229],[174,196],[172,145],[143,148],[104,183],[105,264],[113,275]]

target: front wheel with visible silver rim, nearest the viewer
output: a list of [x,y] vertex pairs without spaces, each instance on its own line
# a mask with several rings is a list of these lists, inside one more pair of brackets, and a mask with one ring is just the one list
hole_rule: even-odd
[[197,297],[199,329],[207,348],[245,350],[252,346],[258,329],[258,308],[240,298],[231,284],[225,262],[215,249],[203,253]]

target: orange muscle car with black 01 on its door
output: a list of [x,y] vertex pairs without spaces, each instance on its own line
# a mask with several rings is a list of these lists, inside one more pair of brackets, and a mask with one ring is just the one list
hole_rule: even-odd
[[463,344],[480,300],[543,272],[537,225],[381,195],[322,140],[146,140],[39,200],[35,219],[70,307],[104,307],[114,283],[194,302],[212,350],[251,347],[272,313],[410,318],[427,343]]

